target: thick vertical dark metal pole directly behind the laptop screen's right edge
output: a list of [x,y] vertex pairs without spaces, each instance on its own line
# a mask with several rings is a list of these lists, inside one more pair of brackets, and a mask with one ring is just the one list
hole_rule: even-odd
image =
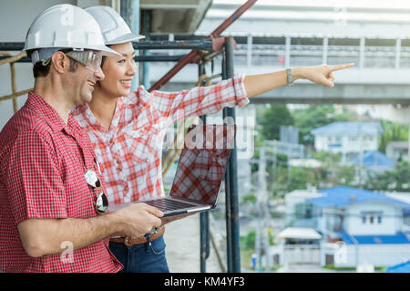
[[[226,78],[233,77],[233,46],[235,40],[232,36],[227,37],[225,41],[225,63],[226,63]],[[235,123],[235,109],[227,108],[223,110],[223,117],[231,117],[233,123]],[[228,184],[229,192],[227,192],[227,220],[231,223],[231,269],[228,267],[228,272],[240,273],[241,272],[241,248],[240,248],[240,222],[239,222],[239,199],[238,199],[238,161],[236,150],[236,139],[233,149],[231,150],[231,157],[228,165],[229,174]],[[228,239],[227,239],[228,241]]]

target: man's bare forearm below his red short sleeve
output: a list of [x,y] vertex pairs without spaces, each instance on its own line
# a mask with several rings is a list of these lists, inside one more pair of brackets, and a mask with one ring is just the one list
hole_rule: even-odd
[[118,217],[108,213],[87,219],[28,219],[18,224],[18,231],[28,255],[52,255],[65,250],[63,242],[78,249],[117,234]]

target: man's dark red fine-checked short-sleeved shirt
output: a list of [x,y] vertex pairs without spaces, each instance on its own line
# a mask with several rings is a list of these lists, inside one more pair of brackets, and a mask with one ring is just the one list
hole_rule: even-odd
[[[26,254],[17,224],[30,218],[96,216],[95,192],[84,170],[97,172],[87,133],[69,117],[67,125],[44,99],[28,94],[0,133],[0,270],[4,272],[118,272],[108,238],[73,252],[73,263],[60,254]],[[101,177],[102,178],[102,177]],[[102,179],[101,179],[102,180]],[[67,248],[64,246],[62,252]]]

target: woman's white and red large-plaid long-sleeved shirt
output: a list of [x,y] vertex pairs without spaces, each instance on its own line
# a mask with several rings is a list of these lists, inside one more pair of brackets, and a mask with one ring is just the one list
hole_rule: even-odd
[[214,114],[249,103],[244,76],[235,75],[210,87],[180,92],[148,92],[143,87],[117,99],[109,130],[87,104],[73,111],[87,130],[102,165],[109,203],[129,203],[164,195],[162,143],[166,129],[179,120]]

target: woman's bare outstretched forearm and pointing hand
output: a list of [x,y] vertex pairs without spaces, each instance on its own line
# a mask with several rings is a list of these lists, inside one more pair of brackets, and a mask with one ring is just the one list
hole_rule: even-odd
[[[321,65],[314,67],[292,68],[292,76],[293,80],[304,78],[311,80],[316,84],[322,84],[332,88],[334,81],[333,72],[353,66],[354,63],[336,66]],[[282,70],[268,74],[246,76],[243,82],[248,98],[251,98],[271,91],[274,88],[279,88],[286,85],[288,83],[288,78],[286,75],[286,70]]]

